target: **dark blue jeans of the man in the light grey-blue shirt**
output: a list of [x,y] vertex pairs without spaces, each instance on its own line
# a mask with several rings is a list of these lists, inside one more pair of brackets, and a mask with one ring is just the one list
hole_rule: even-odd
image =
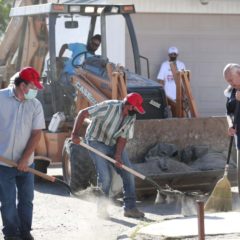
[[24,236],[30,233],[33,197],[33,174],[20,172],[16,168],[0,166],[2,232],[5,237]]

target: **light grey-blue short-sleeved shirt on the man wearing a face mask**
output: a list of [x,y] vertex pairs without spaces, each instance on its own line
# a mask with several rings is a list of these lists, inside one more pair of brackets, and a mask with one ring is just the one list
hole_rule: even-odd
[[[19,101],[12,87],[0,90],[0,156],[17,162],[32,130],[44,128],[43,108],[39,100]],[[34,154],[29,159],[29,165],[33,159]]]

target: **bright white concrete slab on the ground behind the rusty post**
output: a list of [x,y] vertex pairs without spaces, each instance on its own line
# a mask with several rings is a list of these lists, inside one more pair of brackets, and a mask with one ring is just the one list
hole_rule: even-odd
[[[240,239],[240,212],[215,213],[205,215],[205,235],[234,235]],[[149,224],[137,231],[137,239],[188,239],[198,236],[198,219],[180,217]],[[158,237],[158,238],[156,238]],[[161,238],[160,238],[161,237]],[[232,238],[232,236],[231,236]],[[225,239],[228,239],[225,236]]]

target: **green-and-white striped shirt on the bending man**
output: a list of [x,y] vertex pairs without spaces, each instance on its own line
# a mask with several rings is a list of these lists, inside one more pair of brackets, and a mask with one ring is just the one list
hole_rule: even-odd
[[133,138],[136,116],[126,116],[123,119],[123,106],[123,101],[108,100],[89,107],[87,110],[91,123],[86,131],[86,140],[113,146],[118,137]]

